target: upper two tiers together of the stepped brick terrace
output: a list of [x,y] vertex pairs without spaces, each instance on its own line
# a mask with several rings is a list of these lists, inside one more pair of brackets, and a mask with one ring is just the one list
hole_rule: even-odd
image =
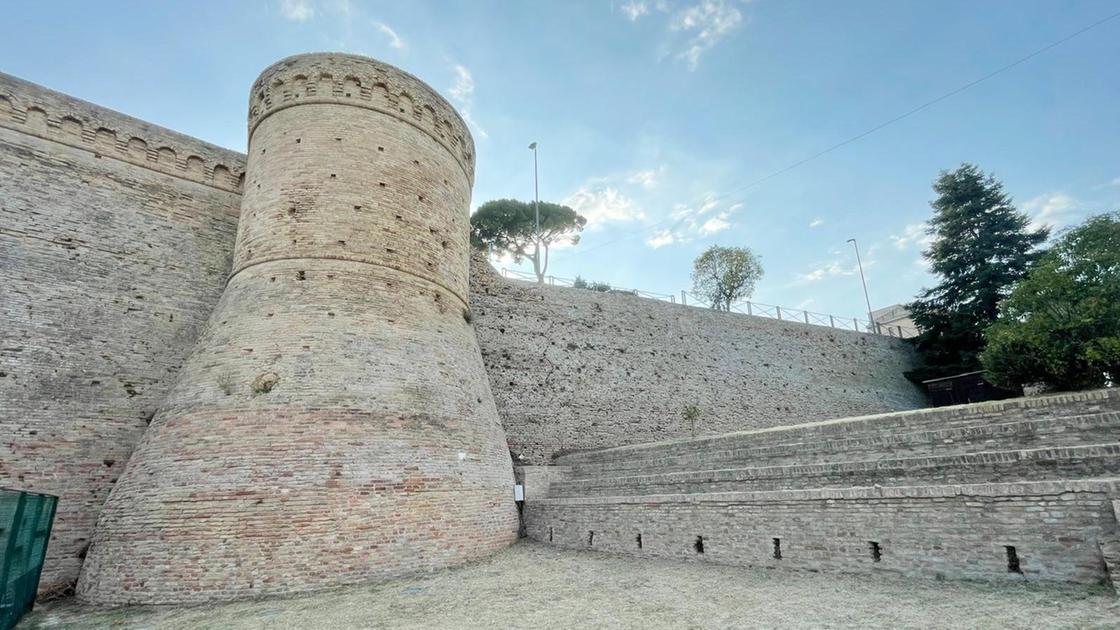
[[[876,460],[980,451],[1083,446],[1114,442],[1120,389],[1015,398],[840,418],[698,438],[575,453],[558,462],[588,471],[631,474],[655,467],[689,471],[719,462],[777,463]],[[584,476],[580,474],[579,476]]]

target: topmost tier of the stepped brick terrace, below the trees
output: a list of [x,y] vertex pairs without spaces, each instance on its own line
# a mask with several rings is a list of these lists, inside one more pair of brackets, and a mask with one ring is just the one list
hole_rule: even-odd
[[802,425],[737,432],[691,439],[675,439],[634,446],[620,446],[557,458],[558,465],[580,467],[627,458],[660,458],[689,453],[758,447],[766,444],[820,443],[861,435],[889,435],[899,432],[984,426],[1014,420],[1076,417],[1120,411],[1120,390],[1105,389],[1038,398],[1017,398],[976,405],[898,411],[875,416],[841,418]]

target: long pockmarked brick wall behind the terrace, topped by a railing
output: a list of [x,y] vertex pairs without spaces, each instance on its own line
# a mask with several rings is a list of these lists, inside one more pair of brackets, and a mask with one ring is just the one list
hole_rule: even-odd
[[511,281],[478,256],[472,274],[491,389],[522,463],[925,405],[899,340]]

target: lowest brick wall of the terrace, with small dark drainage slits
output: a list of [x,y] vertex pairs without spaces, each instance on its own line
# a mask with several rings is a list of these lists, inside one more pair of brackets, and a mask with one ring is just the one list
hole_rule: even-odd
[[[1073,481],[549,498],[528,501],[525,519],[535,540],[635,556],[1095,584],[1108,580],[1102,547],[1117,545],[1118,490]],[[1009,546],[1021,573],[1009,571]]]

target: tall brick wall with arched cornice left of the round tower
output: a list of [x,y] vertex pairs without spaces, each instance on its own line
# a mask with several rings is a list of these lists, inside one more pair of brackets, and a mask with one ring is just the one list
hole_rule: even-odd
[[221,295],[241,164],[0,74],[0,485],[59,497],[45,592]]

